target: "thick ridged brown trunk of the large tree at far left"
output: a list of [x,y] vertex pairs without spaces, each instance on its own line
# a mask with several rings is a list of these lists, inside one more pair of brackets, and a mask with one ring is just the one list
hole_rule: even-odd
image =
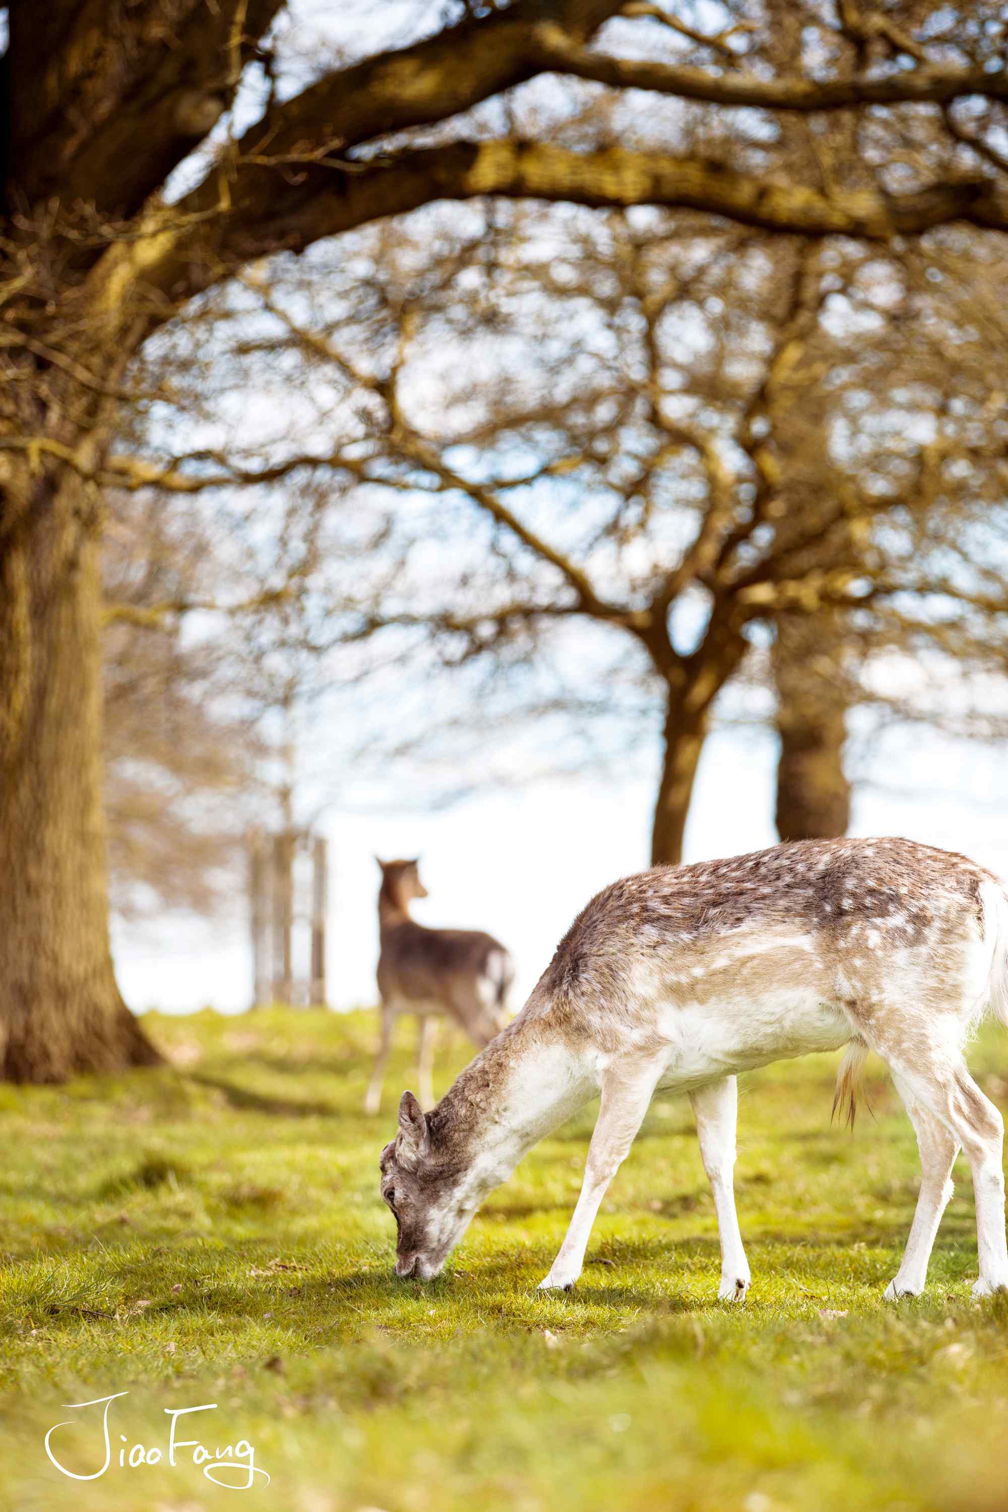
[[94,497],[8,469],[0,523],[0,1075],[160,1058],[109,951]]

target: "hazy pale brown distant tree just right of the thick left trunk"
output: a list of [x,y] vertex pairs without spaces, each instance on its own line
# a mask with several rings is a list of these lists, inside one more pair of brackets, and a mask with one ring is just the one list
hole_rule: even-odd
[[242,838],[267,806],[261,691],[243,634],[183,629],[165,603],[219,593],[206,529],[153,493],[109,497],[103,715],[112,903],[209,915],[240,895]]

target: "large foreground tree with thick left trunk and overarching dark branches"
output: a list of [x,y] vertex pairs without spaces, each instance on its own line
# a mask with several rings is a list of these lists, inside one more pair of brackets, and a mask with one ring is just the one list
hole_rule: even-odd
[[[296,42],[286,50],[298,29],[284,32],[281,0],[113,8],[98,47],[88,8],[11,6],[0,240],[5,1075],[53,1080],[154,1058],[121,1002],[107,945],[100,490],[151,478],[175,494],[206,487],[203,452],[181,467],[151,467],[112,451],[133,398],[130,364],[187,301],[258,257],[443,198],[663,204],[812,237],[887,240],[963,221],[1008,227],[990,145],[1008,94],[994,8],[949,21],[929,5],[884,15],[845,5],[839,26],[831,9],[812,8],[818,51],[801,73],[775,68],[759,15],[744,5],[725,8],[725,35],[737,23],[754,27],[734,33],[747,51],[737,68],[725,67],[733,44],[724,36],[698,38],[676,18],[663,26],[668,17],[653,6],[627,8],[632,20],[620,18],[623,9],[620,0],[465,9],[441,32],[373,56],[361,56],[358,38],[343,38],[343,56],[337,50],[305,82]],[[612,36],[601,35],[598,48],[603,23]],[[651,54],[642,60],[632,41],[639,32]],[[845,62],[852,50],[864,60],[854,74]],[[523,85],[535,91],[547,74],[571,89],[615,91],[623,145],[576,130],[571,142],[502,135],[500,97]],[[669,151],[651,129],[656,112],[635,130],[635,104],[645,97],[632,91],[669,106],[756,107],[768,119],[866,107],[881,107],[886,119],[857,183],[795,181],[777,172],[766,132],[763,150],[750,133],[730,166]],[[985,115],[964,121],[957,101],[972,100]],[[948,110],[952,122],[923,178],[901,174],[899,163],[920,106]],[[210,133],[213,150],[180,169],[193,184],[181,192],[175,169]],[[973,136],[978,144],[964,147]],[[286,466],[290,473],[305,463]],[[567,582],[573,594],[589,588],[577,572]],[[604,614],[624,609],[614,603]],[[639,634],[666,656],[657,631]],[[730,664],[734,626],[712,634],[712,649],[718,641],[721,664]],[[689,674],[677,697],[683,718],[695,721],[706,694]],[[689,747],[685,732],[680,748]],[[683,759],[689,767],[692,758]],[[685,768],[671,773],[668,791],[683,777]],[[669,820],[668,836],[674,827]]]

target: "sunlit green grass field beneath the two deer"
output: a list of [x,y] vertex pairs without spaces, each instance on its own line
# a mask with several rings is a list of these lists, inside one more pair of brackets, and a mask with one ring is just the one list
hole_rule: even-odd
[[[917,1179],[881,1077],[852,1136],[830,1128],[833,1057],[744,1080],[744,1308],[716,1300],[682,1099],[651,1108],[577,1290],[544,1299],[594,1110],[491,1198],[444,1276],[399,1282],[376,1158],[407,1043],[369,1120],[370,1015],[145,1024],[171,1067],[0,1087],[0,1506],[231,1506],[204,1470],[227,1444],[246,1467],[239,1441],[271,1476],[245,1501],[283,1512],[1008,1506],[1008,1305],[969,1296],[966,1170],[926,1296],[881,1300]],[[1003,1105],[1008,1040],[972,1063]],[[112,1393],[95,1474],[104,1409],[63,1405]],[[206,1403],[175,1421],[212,1461],[171,1467],[168,1411]],[[50,1464],[57,1423],[54,1458],[94,1479]],[[162,1461],[119,1468],[136,1444]]]

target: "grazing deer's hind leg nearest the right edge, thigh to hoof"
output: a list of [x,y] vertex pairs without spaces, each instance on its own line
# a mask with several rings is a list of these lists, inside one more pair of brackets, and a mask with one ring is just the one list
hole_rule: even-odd
[[1008,1246],[1005,1244],[1005,1176],[1000,1164],[1003,1120],[994,1104],[970,1077],[958,1048],[923,1042],[920,1045],[875,1048],[889,1061],[893,1075],[905,1083],[920,1104],[963,1146],[973,1176],[976,1198],[976,1253],[979,1279],[975,1297],[1008,1290]]

